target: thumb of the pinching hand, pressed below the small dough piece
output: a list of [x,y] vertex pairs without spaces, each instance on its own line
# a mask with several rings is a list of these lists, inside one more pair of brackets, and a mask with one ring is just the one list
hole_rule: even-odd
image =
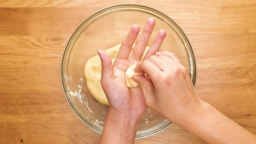
[[136,75],[133,78],[140,84],[146,104],[151,105],[154,102],[154,86],[151,80],[142,75]]

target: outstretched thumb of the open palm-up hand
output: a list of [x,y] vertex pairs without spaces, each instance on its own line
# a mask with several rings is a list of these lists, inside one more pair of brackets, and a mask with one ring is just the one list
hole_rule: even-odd
[[112,60],[104,50],[98,50],[97,52],[101,60],[101,79],[107,80],[113,76]]

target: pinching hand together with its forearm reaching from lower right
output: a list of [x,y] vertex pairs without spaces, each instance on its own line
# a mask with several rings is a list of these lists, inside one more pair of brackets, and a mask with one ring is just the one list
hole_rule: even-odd
[[252,144],[256,135],[224,116],[196,94],[188,72],[170,52],[157,52],[135,69],[146,104],[211,144]]

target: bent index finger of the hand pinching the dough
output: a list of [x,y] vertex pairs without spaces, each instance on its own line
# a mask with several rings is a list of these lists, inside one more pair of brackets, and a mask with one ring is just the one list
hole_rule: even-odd
[[143,62],[139,63],[134,71],[146,73],[146,75],[152,80],[153,83],[157,82],[159,80],[159,76],[163,74],[162,70],[160,70],[150,60],[144,60]]

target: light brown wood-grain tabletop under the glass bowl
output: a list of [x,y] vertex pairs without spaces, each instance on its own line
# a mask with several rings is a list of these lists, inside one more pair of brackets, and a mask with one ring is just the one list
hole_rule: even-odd
[[[194,48],[198,95],[256,133],[256,1],[123,0],[173,18]],[[94,144],[71,110],[60,60],[75,28],[118,0],[0,0],[0,143]],[[201,144],[173,124],[135,144]]]

